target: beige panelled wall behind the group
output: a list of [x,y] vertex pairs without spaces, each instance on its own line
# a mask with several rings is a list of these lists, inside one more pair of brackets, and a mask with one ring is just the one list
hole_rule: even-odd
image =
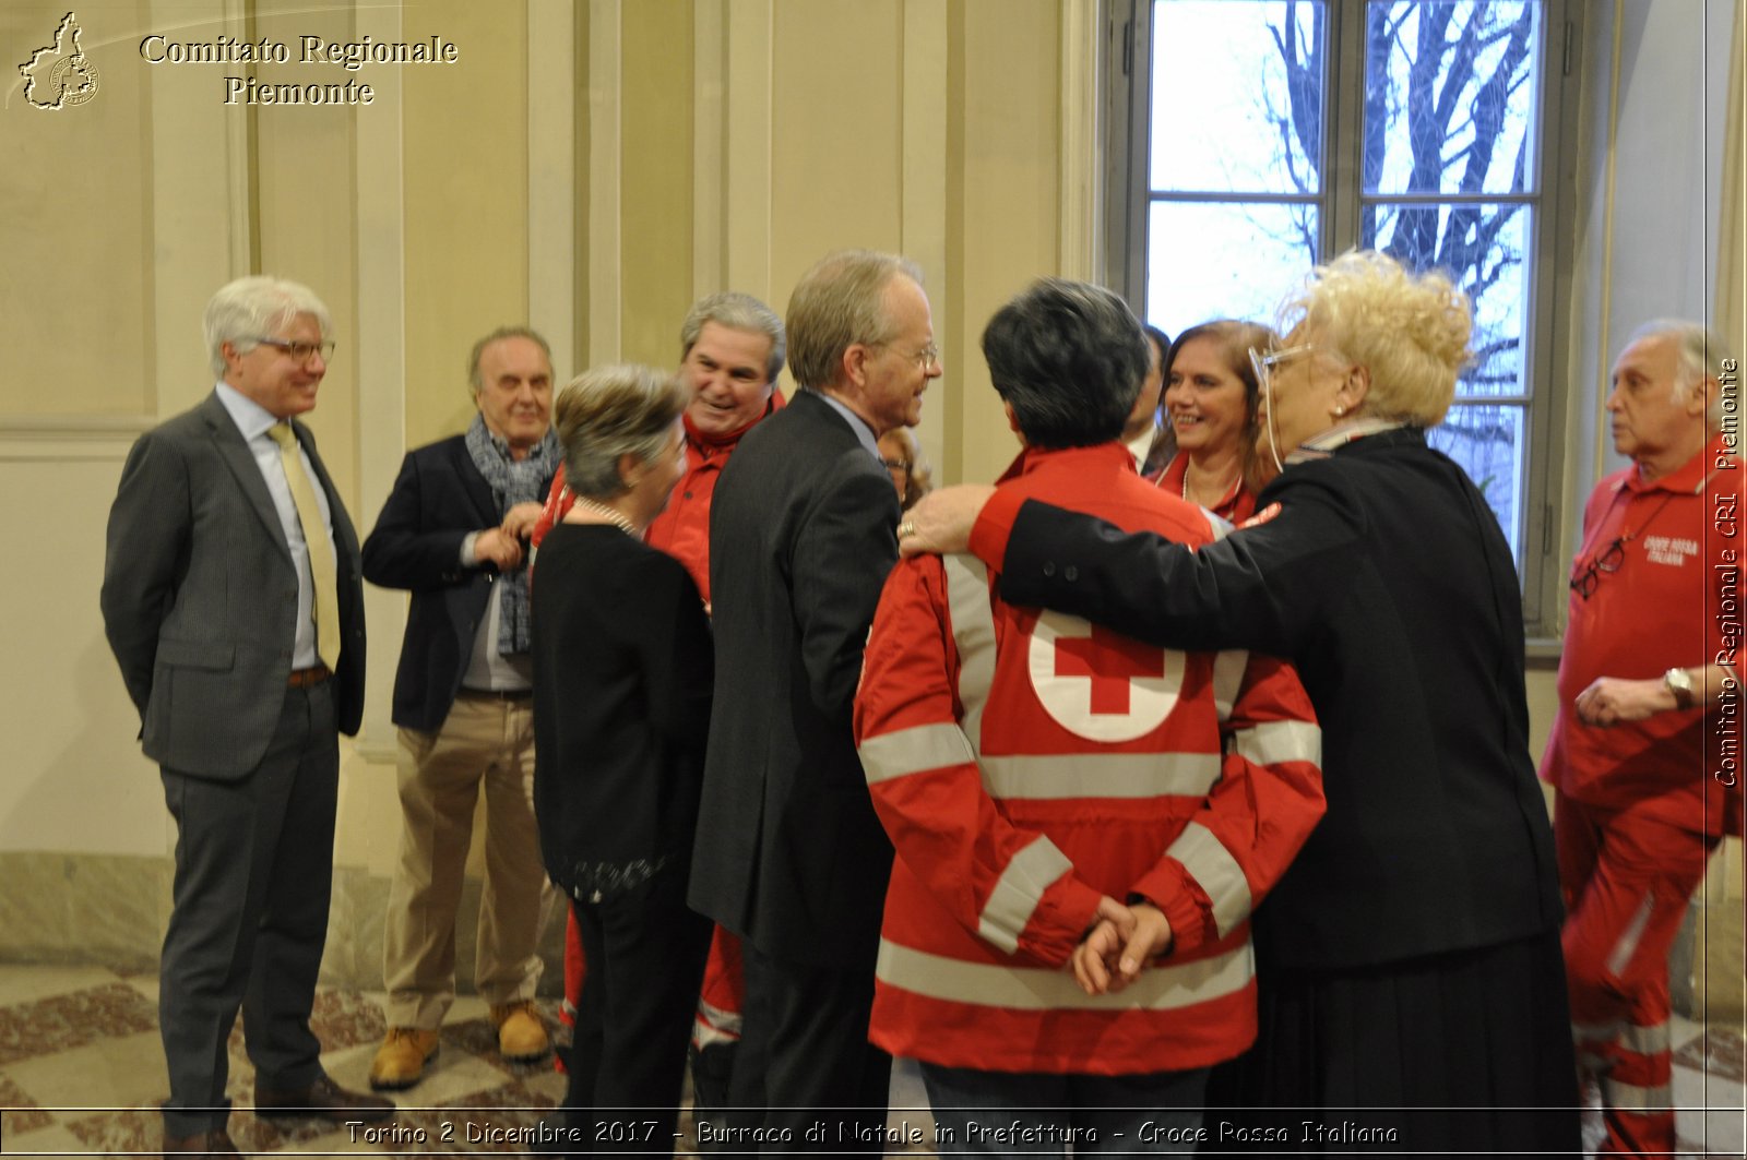
[[[1576,295],[1569,327],[1588,383],[1644,290],[1639,248],[1663,238],[1646,232],[1665,217],[1660,169],[1630,162],[1646,148],[1633,135],[1658,124],[1656,80],[1682,72],[1635,52],[1674,52],[1693,26],[1665,16],[1663,0],[1597,7],[1618,14],[1626,51],[1614,61],[1611,24],[1592,23],[1571,273],[1590,293]],[[0,5],[0,59],[24,59],[65,10]],[[977,349],[982,323],[1039,274],[1097,273],[1094,10],[1094,0],[80,5],[96,100],[49,114],[24,108],[14,86],[0,108],[0,487],[31,500],[0,517],[0,536],[30,561],[7,570],[0,601],[26,610],[12,613],[9,639],[33,657],[0,702],[14,739],[0,858],[169,851],[96,583],[131,438],[208,388],[197,325],[218,283],[283,273],[334,309],[341,355],[313,426],[362,529],[404,451],[468,421],[463,360],[484,330],[533,320],[554,337],[561,376],[603,360],[673,365],[697,293],[732,287],[781,311],[805,267],[846,245],[903,250],[924,267],[947,374],[928,395],[922,444],[943,482],[987,480],[1015,444]],[[236,66],[147,66],[136,45],[152,30],[440,35],[461,59],[264,68],[264,80],[369,80],[377,103],[248,110],[220,103],[220,77]],[[1623,114],[1611,131],[1612,93]],[[1738,238],[1738,159],[1728,169],[1712,204],[1737,213],[1712,229]],[[1588,414],[1572,407],[1567,508],[1600,470]],[[400,594],[369,596],[370,708],[342,774],[337,860],[376,877],[397,826],[388,692],[404,606]],[[1530,678],[1530,699],[1539,744],[1550,673]],[[0,929],[12,929],[9,896]]]

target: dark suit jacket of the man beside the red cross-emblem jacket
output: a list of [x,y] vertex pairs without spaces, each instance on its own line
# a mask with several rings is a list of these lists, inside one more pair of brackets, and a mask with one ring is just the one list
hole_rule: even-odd
[[769,956],[872,968],[879,947],[891,844],[851,711],[896,526],[891,475],[812,391],[748,432],[716,484],[690,903]]

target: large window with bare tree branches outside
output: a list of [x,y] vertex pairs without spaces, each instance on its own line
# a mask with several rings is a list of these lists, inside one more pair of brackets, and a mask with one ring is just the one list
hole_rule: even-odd
[[[1447,271],[1474,362],[1431,433],[1481,487],[1530,631],[1557,568],[1564,0],[1113,0],[1111,266],[1170,334],[1274,321],[1354,246]],[[1571,101],[1574,105],[1574,101]],[[1569,162],[1567,162],[1569,164]],[[1562,239],[1564,236],[1564,239]]]

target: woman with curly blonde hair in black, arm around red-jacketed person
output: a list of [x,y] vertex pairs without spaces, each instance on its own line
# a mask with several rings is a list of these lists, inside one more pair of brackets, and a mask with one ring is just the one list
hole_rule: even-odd
[[[1467,300],[1438,274],[1349,253],[1288,316],[1281,348],[1256,353],[1258,451],[1284,473],[1225,540],[1190,550],[950,489],[907,517],[901,545],[968,543],[1017,604],[1296,666],[1328,812],[1256,910],[1260,1034],[1235,1094],[1317,1111],[1284,1115],[1268,1148],[1574,1153],[1516,571],[1485,498],[1426,444],[1467,360]],[[1088,989],[1144,961],[1125,938],[1088,936]]]

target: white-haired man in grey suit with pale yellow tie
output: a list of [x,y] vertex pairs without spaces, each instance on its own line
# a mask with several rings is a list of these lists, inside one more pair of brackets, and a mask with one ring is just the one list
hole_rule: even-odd
[[164,1151],[236,1155],[225,1041],[243,1008],[257,1115],[381,1120],[309,1031],[327,936],[337,734],[363,713],[358,538],[293,416],[334,349],[307,288],[206,304],[213,393],[140,437],[110,508],[103,625],[176,819],[159,964]]

